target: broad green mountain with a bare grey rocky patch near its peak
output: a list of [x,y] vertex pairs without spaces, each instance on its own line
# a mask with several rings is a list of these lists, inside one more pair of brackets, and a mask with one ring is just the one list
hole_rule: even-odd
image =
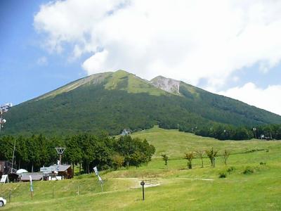
[[241,101],[162,76],[148,81],[124,70],[78,79],[14,106],[5,118],[4,134],[119,134],[155,124],[188,130],[281,123],[279,115]]

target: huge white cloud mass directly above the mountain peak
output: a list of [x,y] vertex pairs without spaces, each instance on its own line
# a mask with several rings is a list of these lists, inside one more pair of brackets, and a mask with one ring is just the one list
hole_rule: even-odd
[[218,89],[241,68],[280,62],[280,11],[273,0],[67,0],[41,6],[34,27],[50,51],[92,53],[88,74],[123,69]]

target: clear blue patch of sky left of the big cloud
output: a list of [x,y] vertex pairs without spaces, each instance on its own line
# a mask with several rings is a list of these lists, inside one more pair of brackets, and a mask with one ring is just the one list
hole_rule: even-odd
[[[34,14],[48,1],[0,1],[0,103],[27,101],[86,76],[79,60],[48,53],[33,27]],[[40,58],[46,58],[40,63]]]

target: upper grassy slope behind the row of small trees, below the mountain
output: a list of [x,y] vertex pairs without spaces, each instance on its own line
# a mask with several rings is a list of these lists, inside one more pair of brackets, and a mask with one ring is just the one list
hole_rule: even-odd
[[185,152],[207,150],[216,148],[219,154],[226,149],[232,154],[246,153],[249,151],[263,151],[281,147],[280,141],[219,141],[209,137],[196,136],[195,134],[178,132],[177,129],[162,129],[157,126],[133,134],[133,137],[147,139],[156,148],[155,157],[166,153],[171,158],[182,158]]

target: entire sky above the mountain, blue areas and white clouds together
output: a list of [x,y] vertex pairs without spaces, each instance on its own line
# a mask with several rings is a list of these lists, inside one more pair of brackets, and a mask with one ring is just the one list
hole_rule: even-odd
[[182,80],[281,115],[281,3],[176,3],[0,1],[0,103],[122,69]]

